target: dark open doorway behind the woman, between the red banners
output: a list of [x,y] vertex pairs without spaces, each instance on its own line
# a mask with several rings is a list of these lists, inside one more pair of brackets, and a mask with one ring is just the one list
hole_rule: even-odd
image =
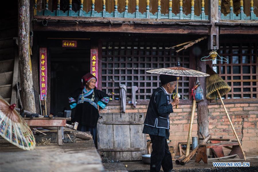
[[90,48],[49,48],[51,59],[50,113],[70,110],[68,97],[90,72]]

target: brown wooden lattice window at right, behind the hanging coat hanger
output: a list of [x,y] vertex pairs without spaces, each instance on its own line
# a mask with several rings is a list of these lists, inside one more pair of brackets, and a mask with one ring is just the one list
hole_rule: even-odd
[[217,73],[231,86],[224,98],[257,98],[258,43],[221,42],[220,56],[228,62],[218,61]]

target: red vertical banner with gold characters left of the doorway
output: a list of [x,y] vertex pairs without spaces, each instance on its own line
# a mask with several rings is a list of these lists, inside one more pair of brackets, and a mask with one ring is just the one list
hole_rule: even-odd
[[40,100],[47,95],[47,48],[39,49]]

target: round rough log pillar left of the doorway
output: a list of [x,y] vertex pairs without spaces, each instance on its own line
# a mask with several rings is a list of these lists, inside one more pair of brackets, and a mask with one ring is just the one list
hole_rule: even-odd
[[22,87],[22,104],[27,111],[35,113],[35,99],[32,81],[32,67],[30,61],[30,4],[28,0],[18,0],[18,43],[19,66]]

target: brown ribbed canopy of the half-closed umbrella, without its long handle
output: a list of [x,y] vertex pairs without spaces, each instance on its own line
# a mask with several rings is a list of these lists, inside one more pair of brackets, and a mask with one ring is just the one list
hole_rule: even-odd
[[209,65],[206,67],[206,71],[210,76],[206,78],[206,98],[216,99],[218,98],[217,90],[220,92],[221,96],[228,93],[231,88],[230,86],[215,72]]

